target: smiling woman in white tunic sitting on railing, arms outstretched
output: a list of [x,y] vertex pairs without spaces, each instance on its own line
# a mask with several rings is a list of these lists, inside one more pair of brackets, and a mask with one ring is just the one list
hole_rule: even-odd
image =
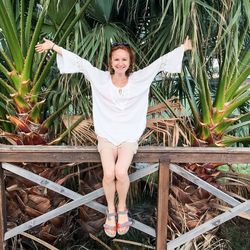
[[[191,41],[187,38],[183,45],[136,72],[133,72],[134,52],[128,44],[113,44],[109,71],[102,71],[52,41],[44,41],[36,46],[36,51],[42,53],[51,49],[57,52],[60,73],[81,72],[91,83],[94,127],[108,204],[104,230],[110,237],[115,237],[116,233],[126,234],[132,224],[126,206],[130,184],[128,168],[146,127],[150,85],[160,71],[181,72],[183,54],[192,49]],[[116,192],[117,208],[114,203]]]

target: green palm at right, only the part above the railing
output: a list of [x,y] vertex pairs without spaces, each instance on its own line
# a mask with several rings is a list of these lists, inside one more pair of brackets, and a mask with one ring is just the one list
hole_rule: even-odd
[[236,137],[233,133],[249,124],[249,112],[242,109],[250,99],[249,83],[245,82],[250,75],[248,2],[185,1],[176,6],[174,1],[166,1],[162,7],[160,25],[152,23],[149,37],[160,35],[147,50],[151,60],[187,32],[192,37],[192,60],[185,60],[184,75],[178,82],[193,117],[189,126],[192,144],[249,143],[249,135]]

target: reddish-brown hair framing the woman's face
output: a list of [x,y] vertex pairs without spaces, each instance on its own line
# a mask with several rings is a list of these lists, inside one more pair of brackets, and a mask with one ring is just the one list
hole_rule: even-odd
[[115,46],[111,47],[111,51],[109,53],[109,63],[108,63],[109,72],[110,72],[111,75],[114,74],[114,69],[112,68],[112,65],[111,65],[111,61],[112,61],[111,59],[112,59],[113,52],[118,50],[118,49],[123,49],[123,50],[127,51],[128,54],[129,54],[130,65],[129,65],[129,68],[127,69],[126,73],[125,73],[126,76],[129,76],[134,70],[135,54],[134,54],[133,50],[130,48],[130,46],[127,45],[127,44],[118,44],[118,45],[115,45]]

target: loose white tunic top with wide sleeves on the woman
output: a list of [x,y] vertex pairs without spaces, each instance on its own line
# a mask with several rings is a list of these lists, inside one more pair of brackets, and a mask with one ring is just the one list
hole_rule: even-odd
[[131,73],[128,83],[117,88],[109,71],[94,67],[87,60],[62,48],[57,54],[60,73],[81,72],[90,81],[95,132],[114,145],[138,141],[146,127],[150,84],[160,71],[181,72],[183,45],[158,58],[149,66]]

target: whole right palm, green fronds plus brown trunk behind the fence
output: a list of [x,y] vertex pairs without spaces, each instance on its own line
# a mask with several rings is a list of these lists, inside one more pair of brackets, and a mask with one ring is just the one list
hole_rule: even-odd
[[[144,43],[149,61],[171,49],[186,34],[192,37],[194,49],[184,58],[184,73],[169,86],[159,87],[158,92],[180,97],[187,117],[181,127],[193,146],[249,144],[249,7],[247,1],[183,1],[178,5],[162,1],[163,15],[150,23]],[[248,129],[240,137],[237,131],[241,128]],[[227,175],[217,170],[217,164],[185,167],[215,185]],[[249,176],[244,176],[248,181],[236,175],[234,178],[247,187]],[[198,190],[198,195],[195,187],[178,178],[173,184],[170,224],[177,231],[171,230],[171,237],[200,223],[196,215],[203,209],[209,217],[213,213],[206,192]],[[197,198],[203,199],[204,206],[194,202]]]

